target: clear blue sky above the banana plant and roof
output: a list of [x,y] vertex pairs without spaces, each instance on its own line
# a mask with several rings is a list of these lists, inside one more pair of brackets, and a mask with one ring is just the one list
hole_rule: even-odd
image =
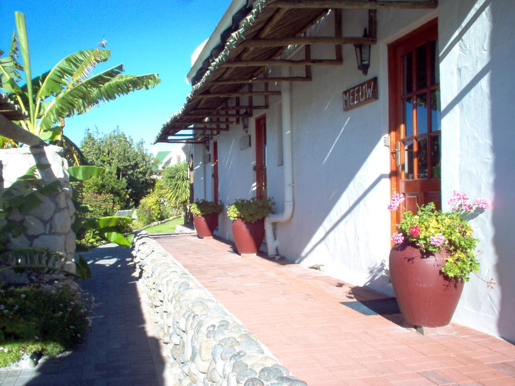
[[[64,133],[79,144],[86,128],[116,126],[150,149],[163,121],[189,93],[185,76],[195,48],[216,27],[230,0],[0,0],[0,49],[9,49],[14,11],[25,13],[33,76],[104,38],[111,59],[98,70],[125,65],[126,74],[159,73],[155,89],[137,91],[66,119]],[[161,145],[166,149],[171,145]]]

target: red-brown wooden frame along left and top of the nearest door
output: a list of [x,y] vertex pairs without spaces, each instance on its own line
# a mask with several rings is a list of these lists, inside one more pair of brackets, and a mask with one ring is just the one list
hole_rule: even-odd
[[[397,39],[396,41],[388,44],[388,134],[390,137],[390,197],[394,194],[394,192],[399,191],[399,180],[400,176],[398,176],[397,172],[397,154],[396,149],[397,142],[400,141],[401,138],[397,137],[398,127],[396,126],[397,122],[402,121],[402,117],[399,116],[402,109],[399,107],[400,103],[400,90],[399,90],[399,82],[397,81],[396,70],[396,49],[402,45],[408,45],[411,40],[414,40],[416,37],[420,37],[425,31],[435,28],[438,26],[438,19],[435,18],[422,26],[414,29],[411,32],[408,32],[403,37]],[[438,33],[438,32],[437,32]],[[438,63],[437,63],[438,65]],[[400,153],[399,153],[400,156]],[[390,217],[390,227],[391,233],[397,231],[397,225],[401,220],[401,215],[398,210],[391,212]]]

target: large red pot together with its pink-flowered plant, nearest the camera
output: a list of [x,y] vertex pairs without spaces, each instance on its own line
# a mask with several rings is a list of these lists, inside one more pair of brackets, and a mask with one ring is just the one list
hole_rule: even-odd
[[[394,194],[390,212],[404,202]],[[416,214],[402,215],[395,243],[390,252],[389,270],[393,292],[406,322],[425,327],[449,324],[459,301],[464,282],[479,269],[474,252],[477,239],[469,220],[488,208],[485,199],[472,202],[459,191],[449,199],[448,212],[437,210],[430,202]],[[487,283],[493,285],[493,281]]]

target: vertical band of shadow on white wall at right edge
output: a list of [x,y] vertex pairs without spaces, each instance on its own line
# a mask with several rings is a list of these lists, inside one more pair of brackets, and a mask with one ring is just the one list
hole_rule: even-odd
[[494,159],[493,226],[494,248],[499,260],[496,264],[496,282],[501,290],[501,305],[497,325],[501,337],[515,342],[515,238],[513,238],[513,189],[515,188],[515,145],[513,122],[515,110],[510,106],[515,89],[515,35],[508,26],[515,14],[514,2],[491,2],[491,61],[490,98],[491,127]]

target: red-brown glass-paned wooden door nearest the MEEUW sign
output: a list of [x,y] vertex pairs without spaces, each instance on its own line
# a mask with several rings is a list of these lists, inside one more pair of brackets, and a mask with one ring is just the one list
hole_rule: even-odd
[[441,207],[437,39],[434,20],[388,46],[391,190],[403,193],[414,213],[428,202]]

